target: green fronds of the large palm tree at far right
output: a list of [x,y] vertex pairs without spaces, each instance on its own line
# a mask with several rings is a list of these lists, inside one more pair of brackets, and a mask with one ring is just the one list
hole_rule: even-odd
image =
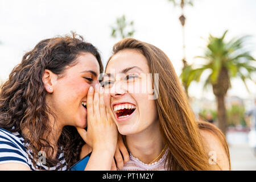
[[[228,70],[229,78],[241,78],[247,88],[246,79],[252,80],[251,74],[256,71],[253,65],[255,59],[251,56],[250,51],[245,49],[246,39],[249,36],[233,38],[229,42],[225,42],[224,39],[227,32],[225,31],[221,38],[209,35],[204,55],[196,56],[204,59],[205,64],[197,65],[195,69],[193,69],[195,65],[187,65],[187,68],[183,69],[180,77],[181,80],[187,80],[187,86],[192,81],[199,82],[202,73],[206,70],[210,70],[211,72],[204,82],[204,88],[207,85],[215,84],[221,68],[225,67]],[[230,82],[230,80],[228,81]]]

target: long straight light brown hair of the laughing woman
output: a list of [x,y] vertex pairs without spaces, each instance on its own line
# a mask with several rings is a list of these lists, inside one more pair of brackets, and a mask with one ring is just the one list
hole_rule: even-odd
[[[155,100],[156,109],[160,133],[168,146],[167,169],[212,170],[214,167],[208,162],[209,157],[200,135],[200,128],[208,125],[199,125],[196,121],[170,59],[159,48],[132,38],[116,43],[113,55],[124,49],[135,49],[146,57],[152,73],[152,86],[154,73],[159,73],[159,88],[154,88],[154,91],[159,92]],[[215,130],[214,126],[209,128]]]

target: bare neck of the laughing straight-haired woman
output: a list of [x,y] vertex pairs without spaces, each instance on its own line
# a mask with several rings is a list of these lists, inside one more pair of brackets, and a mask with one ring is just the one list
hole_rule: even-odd
[[[162,152],[164,141],[160,134],[159,122],[153,123],[140,133],[127,135],[126,143],[131,154],[145,164],[150,164],[153,160],[157,162],[164,153]],[[160,155],[161,152],[162,155]]]

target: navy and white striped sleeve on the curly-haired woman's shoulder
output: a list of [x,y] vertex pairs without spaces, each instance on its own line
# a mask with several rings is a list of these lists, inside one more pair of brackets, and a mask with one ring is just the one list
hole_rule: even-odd
[[4,163],[20,163],[28,166],[22,143],[17,141],[15,135],[0,129],[0,164]]

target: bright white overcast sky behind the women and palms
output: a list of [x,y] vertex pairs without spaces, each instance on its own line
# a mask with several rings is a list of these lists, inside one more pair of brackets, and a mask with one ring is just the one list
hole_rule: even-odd
[[[195,0],[193,7],[186,7],[188,62],[201,63],[194,57],[202,55],[208,35],[221,36],[225,30],[229,30],[227,40],[233,36],[252,35],[250,49],[256,57],[255,9],[255,0]],[[6,80],[24,53],[40,40],[71,31],[93,43],[100,50],[105,65],[113,44],[119,40],[110,37],[110,26],[123,14],[128,20],[134,20],[134,38],[154,44],[166,52],[180,75],[180,8],[167,0],[0,0],[0,78]],[[233,80],[228,96],[256,97],[255,84],[251,81],[247,84],[250,94],[241,81]],[[210,89],[203,92],[201,84],[197,83],[192,84],[189,93],[197,98],[214,98]]]

